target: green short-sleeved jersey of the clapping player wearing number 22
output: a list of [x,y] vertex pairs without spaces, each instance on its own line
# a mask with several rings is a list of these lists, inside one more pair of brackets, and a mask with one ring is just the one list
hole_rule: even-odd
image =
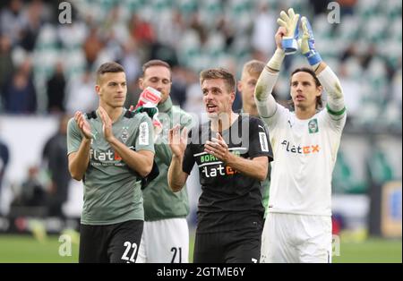
[[[86,115],[93,139],[90,145],[90,164],[85,171],[83,225],[111,225],[132,219],[144,219],[141,197],[141,177],[110,146],[103,137],[98,112]],[[67,129],[68,154],[78,151],[83,136],[72,118]],[[134,115],[124,109],[112,124],[113,134],[130,149],[154,152],[150,117]]]

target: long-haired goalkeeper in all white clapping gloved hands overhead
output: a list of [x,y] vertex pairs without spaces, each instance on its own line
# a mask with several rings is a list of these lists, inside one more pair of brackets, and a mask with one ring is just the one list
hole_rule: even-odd
[[[346,123],[343,92],[339,79],[314,49],[312,29],[303,17],[300,50],[312,69],[299,68],[291,74],[294,112],[276,103],[271,91],[285,56],[282,41],[295,37],[299,15],[289,9],[280,18],[278,48],[255,90],[275,159],[261,262],[330,262],[331,174]],[[323,110],[322,89],[328,94]]]

